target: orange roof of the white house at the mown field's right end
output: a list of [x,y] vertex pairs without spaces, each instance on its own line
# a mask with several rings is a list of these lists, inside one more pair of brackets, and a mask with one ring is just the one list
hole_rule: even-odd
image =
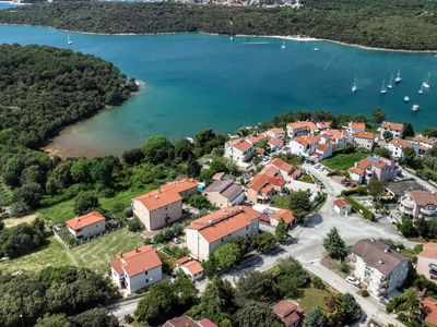
[[120,254],[110,265],[118,274],[125,271],[127,276],[132,277],[162,266],[163,263],[152,246],[142,246]]

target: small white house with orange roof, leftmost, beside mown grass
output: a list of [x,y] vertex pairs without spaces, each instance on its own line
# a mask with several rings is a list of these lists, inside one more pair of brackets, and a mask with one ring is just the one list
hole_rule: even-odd
[[69,232],[76,239],[93,238],[106,231],[106,219],[97,211],[67,220],[66,225]]

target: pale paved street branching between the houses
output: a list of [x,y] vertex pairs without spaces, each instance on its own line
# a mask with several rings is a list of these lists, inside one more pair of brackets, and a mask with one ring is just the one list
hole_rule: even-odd
[[[238,276],[241,274],[251,270],[268,270],[276,264],[279,258],[292,255],[299,261],[306,269],[320,277],[332,288],[340,292],[352,293],[356,301],[362,305],[367,317],[374,317],[378,322],[386,325],[392,324],[394,326],[403,326],[385,312],[383,304],[379,303],[371,296],[363,298],[358,295],[358,289],[355,286],[349,283],[341,276],[321,265],[320,261],[323,256],[326,256],[322,242],[329,230],[332,227],[336,227],[347,245],[352,245],[363,238],[391,239],[392,241],[402,242],[408,247],[413,246],[414,243],[402,238],[391,223],[370,222],[365,220],[363,217],[344,217],[336,214],[332,208],[332,202],[340,194],[340,192],[344,190],[344,187],[331,180],[323,172],[315,169],[312,166],[304,165],[303,168],[318,178],[324,184],[328,191],[327,202],[320,211],[309,218],[306,227],[299,226],[290,232],[291,237],[293,238],[293,242],[287,245],[282,245],[281,252],[275,255],[260,255],[258,261],[253,261],[252,265],[246,264],[241,268],[237,268],[236,270],[234,269],[233,271],[225,274],[223,278],[226,278],[231,282],[235,283],[235,281],[238,279]],[[265,228],[269,227],[262,227],[262,229]],[[206,286],[206,280],[197,282],[197,286],[202,292]],[[108,311],[121,319],[126,314],[133,314],[133,311],[135,310],[135,303],[138,301],[139,299],[122,302],[118,306],[113,305],[108,307]]]

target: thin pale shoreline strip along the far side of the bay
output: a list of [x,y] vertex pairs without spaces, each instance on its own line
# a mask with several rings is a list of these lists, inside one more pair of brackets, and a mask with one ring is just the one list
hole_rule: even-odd
[[[3,1],[5,2],[5,1]],[[25,5],[25,3],[22,3]],[[178,35],[178,34],[202,34],[202,35],[211,35],[211,36],[228,36],[227,34],[217,34],[217,33],[209,33],[209,32],[162,32],[162,33],[96,33],[96,32],[85,32],[85,31],[74,31],[74,29],[63,29],[57,28],[54,26],[47,25],[31,25],[31,24],[10,24],[10,23],[0,23],[0,26],[27,26],[27,27],[45,27],[52,28],[55,31],[64,32],[64,33],[75,33],[75,34],[84,34],[84,35],[103,35],[103,36],[145,36],[145,35]],[[392,49],[392,48],[378,48],[364,46],[358,44],[347,44],[340,40],[327,39],[327,38],[316,38],[310,36],[302,36],[302,35],[246,35],[246,34],[235,34],[234,37],[257,37],[257,38],[276,38],[276,39],[285,39],[299,43],[331,43],[344,47],[358,48],[363,50],[370,51],[385,51],[385,52],[401,52],[401,53],[437,53],[437,49],[435,50],[408,50],[408,49]]]

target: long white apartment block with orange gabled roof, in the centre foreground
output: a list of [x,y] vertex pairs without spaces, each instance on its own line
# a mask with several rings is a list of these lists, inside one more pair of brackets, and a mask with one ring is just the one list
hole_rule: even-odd
[[258,234],[260,216],[260,213],[245,206],[220,209],[185,228],[186,245],[193,257],[208,259],[215,249],[234,238]]

